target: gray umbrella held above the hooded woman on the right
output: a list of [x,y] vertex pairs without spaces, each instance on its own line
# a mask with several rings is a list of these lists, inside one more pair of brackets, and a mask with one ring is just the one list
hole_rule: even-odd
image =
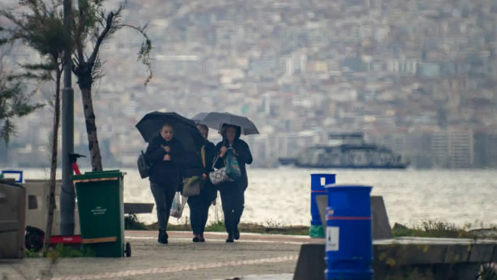
[[242,134],[259,134],[257,127],[245,116],[235,115],[229,112],[202,112],[192,118],[196,123],[207,125],[213,129],[221,129],[223,124],[240,126]]

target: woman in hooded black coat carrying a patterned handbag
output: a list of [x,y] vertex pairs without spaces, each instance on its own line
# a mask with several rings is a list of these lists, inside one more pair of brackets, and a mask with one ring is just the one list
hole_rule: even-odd
[[223,125],[220,130],[223,141],[216,145],[217,155],[219,158],[216,162],[216,168],[224,167],[224,156],[228,148],[233,148],[233,153],[240,165],[241,176],[234,181],[226,181],[218,185],[223,206],[224,222],[228,238],[226,242],[234,242],[240,239],[238,224],[244,212],[245,190],[248,187],[246,165],[252,163],[252,154],[247,142],[240,139],[242,130],[239,126]]

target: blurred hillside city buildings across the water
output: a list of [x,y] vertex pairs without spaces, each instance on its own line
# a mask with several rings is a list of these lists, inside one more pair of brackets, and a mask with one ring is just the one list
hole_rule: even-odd
[[[497,165],[494,1],[128,3],[127,22],[149,22],[155,73],[144,87],[132,30],[106,43],[94,107],[109,165],[135,165],[145,143],[134,125],[155,110],[248,116],[261,132],[247,138],[261,167],[330,131],[364,131],[419,168]],[[34,59],[22,47],[15,62]],[[78,98],[75,108],[76,146],[87,154]],[[9,159],[46,162],[51,122],[49,110],[19,120]]]

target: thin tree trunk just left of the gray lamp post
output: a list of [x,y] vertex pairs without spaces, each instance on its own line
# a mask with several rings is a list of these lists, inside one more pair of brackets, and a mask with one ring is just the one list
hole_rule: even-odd
[[47,254],[48,248],[50,246],[50,238],[52,237],[52,224],[54,221],[54,209],[55,209],[55,186],[56,175],[57,175],[57,148],[58,148],[58,138],[59,138],[59,123],[60,123],[60,107],[61,107],[61,75],[62,71],[57,66],[56,70],[56,85],[55,85],[55,105],[54,105],[54,125],[52,130],[52,153],[51,153],[51,164],[50,164],[50,190],[48,197],[48,215],[47,215],[47,229],[45,230],[45,243],[43,244],[43,254]]

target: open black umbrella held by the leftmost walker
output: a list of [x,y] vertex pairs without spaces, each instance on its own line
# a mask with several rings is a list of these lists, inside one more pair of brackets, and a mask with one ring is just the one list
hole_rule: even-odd
[[175,112],[150,112],[137,124],[136,128],[142,134],[145,142],[150,142],[159,136],[164,123],[172,125],[173,137],[179,140],[187,151],[200,151],[205,139],[197,129],[195,122]]

